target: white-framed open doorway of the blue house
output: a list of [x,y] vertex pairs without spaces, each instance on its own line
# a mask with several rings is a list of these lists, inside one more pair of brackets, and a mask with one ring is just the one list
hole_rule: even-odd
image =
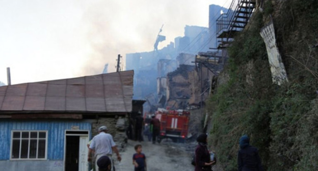
[[65,171],[88,171],[88,137],[89,131],[65,132]]

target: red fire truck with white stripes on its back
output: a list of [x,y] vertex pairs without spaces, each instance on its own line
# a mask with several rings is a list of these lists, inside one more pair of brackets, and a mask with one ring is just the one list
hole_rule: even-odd
[[189,111],[158,108],[155,115],[160,120],[159,142],[171,138],[174,142],[184,143],[188,136]]

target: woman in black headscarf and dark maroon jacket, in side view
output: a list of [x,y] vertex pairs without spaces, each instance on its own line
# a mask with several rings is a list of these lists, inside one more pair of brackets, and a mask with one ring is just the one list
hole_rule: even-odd
[[197,138],[198,146],[195,150],[195,171],[211,170],[216,160],[210,161],[210,153],[207,150],[207,135],[200,134]]

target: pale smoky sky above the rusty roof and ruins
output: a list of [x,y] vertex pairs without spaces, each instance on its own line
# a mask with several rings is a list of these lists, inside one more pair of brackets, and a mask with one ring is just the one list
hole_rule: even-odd
[[[208,6],[230,0],[0,0],[0,81],[36,82],[101,74],[117,55],[169,44],[184,26],[208,26]],[[122,60],[125,63],[124,58]]]

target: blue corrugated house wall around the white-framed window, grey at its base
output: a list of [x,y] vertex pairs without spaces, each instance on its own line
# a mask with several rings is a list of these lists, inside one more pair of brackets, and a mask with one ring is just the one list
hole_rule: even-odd
[[[63,170],[65,130],[91,133],[91,123],[70,121],[0,121],[0,165],[4,170]],[[12,130],[46,130],[47,160],[10,160]],[[46,169],[47,168],[47,169]]]

